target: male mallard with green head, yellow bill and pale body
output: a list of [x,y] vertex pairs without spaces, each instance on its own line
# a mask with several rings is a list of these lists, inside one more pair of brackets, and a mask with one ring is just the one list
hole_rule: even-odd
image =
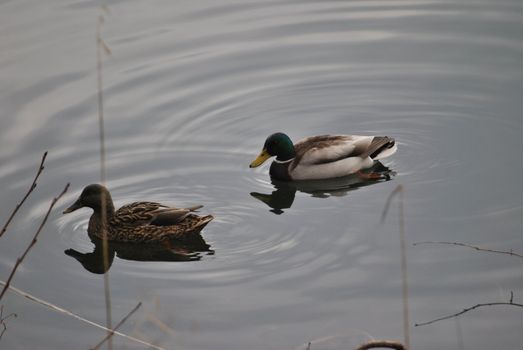
[[289,136],[278,132],[270,135],[251,168],[275,156],[269,174],[273,179],[322,180],[358,173],[371,168],[379,159],[396,152],[388,136],[320,135],[292,143]]

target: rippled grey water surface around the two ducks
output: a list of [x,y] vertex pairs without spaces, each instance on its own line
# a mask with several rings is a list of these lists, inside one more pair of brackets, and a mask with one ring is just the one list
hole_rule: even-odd
[[[107,186],[116,206],[203,204],[207,249],[159,261],[117,251],[113,319],[168,349],[351,349],[402,340],[399,196],[412,349],[523,344],[523,3],[502,1],[114,1],[102,27]],[[90,212],[61,211],[100,181],[96,1],[0,2],[0,238],[6,280],[63,186],[13,286],[105,324]],[[389,135],[396,175],[368,186],[277,188],[248,164],[272,132]],[[340,188],[341,187],[341,188]],[[279,192],[281,194],[281,192]],[[167,260],[167,261],[165,261]],[[2,349],[86,349],[104,332],[12,292]],[[115,337],[116,349],[141,349]]]

